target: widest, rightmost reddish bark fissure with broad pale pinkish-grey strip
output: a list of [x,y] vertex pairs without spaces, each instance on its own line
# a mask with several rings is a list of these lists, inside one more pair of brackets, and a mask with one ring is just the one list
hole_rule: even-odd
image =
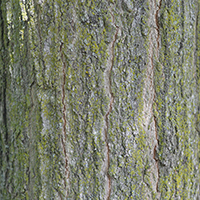
[[[156,194],[156,199],[160,198],[159,192],[159,179],[160,179],[160,170],[159,170],[159,160],[157,156],[157,149],[159,146],[159,138],[157,131],[157,118],[154,114],[156,106],[156,89],[154,84],[155,79],[155,61],[158,62],[161,66],[162,64],[159,62],[159,47],[160,47],[160,25],[158,20],[159,11],[162,6],[162,0],[160,0],[157,4],[157,1],[150,1],[150,21],[153,27],[150,29],[149,35],[149,66],[147,68],[147,79],[144,90],[144,98],[148,98],[147,102],[144,104],[144,124],[145,130],[150,133],[150,152],[151,159],[153,160],[152,168],[151,168],[151,183],[154,193]],[[152,24],[153,23],[153,24]],[[148,95],[148,96],[145,96]],[[151,124],[151,129],[148,126]]]

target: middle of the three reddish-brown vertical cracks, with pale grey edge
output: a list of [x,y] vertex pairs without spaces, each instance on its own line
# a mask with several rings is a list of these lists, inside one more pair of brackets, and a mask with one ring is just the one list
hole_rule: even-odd
[[108,142],[108,118],[109,115],[112,111],[112,107],[113,107],[113,102],[114,102],[114,95],[112,92],[112,88],[111,88],[111,72],[112,72],[112,68],[114,65],[114,47],[115,47],[115,42],[117,40],[117,35],[118,35],[118,31],[119,31],[119,27],[115,24],[115,20],[114,20],[114,15],[111,13],[111,18],[112,18],[112,23],[114,24],[116,31],[115,31],[115,35],[113,36],[113,40],[111,41],[110,45],[109,45],[109,58],[108,58],[108,64],[107,64],[107,68],[105,70],[105,86],[106,86],[106,92],[108,94],[108,96],[110,97],[110,103],[108,106],[108,110],[104,116],[104,139],[105,139],[105,144],[106,144],[106,155],[105,155],[105,175],[106,175],[106,184],[105,184],[105,199],[109,200],[110,199],[110,195],[111,195],[111,176],[109,174],[109,168],[110,168],[110,147],[109,147],[109,142]]

